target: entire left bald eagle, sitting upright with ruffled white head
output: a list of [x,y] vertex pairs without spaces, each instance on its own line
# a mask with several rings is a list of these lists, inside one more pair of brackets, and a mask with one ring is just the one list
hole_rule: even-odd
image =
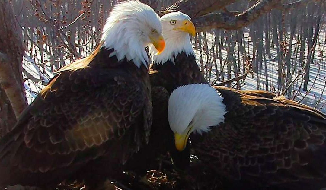
[[61,68],[0,139],[0,186],[44,187],[81,175],[96,184],[146,144],[152,123],[145,46],[162,25],[138,1],[115,6],[100,44]]

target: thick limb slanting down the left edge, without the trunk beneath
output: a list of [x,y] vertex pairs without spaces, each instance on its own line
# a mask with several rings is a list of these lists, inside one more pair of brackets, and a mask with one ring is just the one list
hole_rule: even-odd
[[8,0],[0,2],[0,85],[6,92],[16,117],[27,106],[22,81],[22,31],[17,26]]

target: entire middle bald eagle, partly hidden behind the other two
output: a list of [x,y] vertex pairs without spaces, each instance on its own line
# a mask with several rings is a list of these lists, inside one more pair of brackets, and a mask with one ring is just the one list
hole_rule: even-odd
[[[169,95],[180,85],[206,82],[197,66],[189,37],[189,34],[195,35],[195,26],[190,17],[182,12],[172,12],[163,15],[160,21],[166,43],[165,50],[157,54],[155,46],[149,46],[153,64],[150,70],[153,101],[150,140],[146,148],[132,158],[129,165],[129,169],[138,173],[158,169],[156,159],[167,151],[176,165],[186,165],[189,162],[189,154],[179,153],[173,143],[174,135],[168,122]],[[139,164],[141,162],[145,164]],[[137,166],[134,163],[138,163]]]

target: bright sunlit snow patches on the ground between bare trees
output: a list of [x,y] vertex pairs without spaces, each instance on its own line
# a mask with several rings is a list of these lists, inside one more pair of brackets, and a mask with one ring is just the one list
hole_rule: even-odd
[[[325,27],[324,27],[325,28]],[[210,52],[210,49],[212,47],[212,43],[214,41],[215,35],[212,33],[207,32],[206,33],[206,37],[208,40],[208,50]],[[316,45],[316,53],[315,53],[315,57],[313,62],[315,64],[311,64],[310,67],[310,80],[308,82],[308,90],[310,90],[310,93],[308,93],[306,95],[306,92],[302,91],[302,88],[300,90],[300,93],[298,94],[298,96],[295,98],[297,101],[301,100],[303,97],[304,99],[301,101],[304,104],[307,104],[311,107],[315,107],[317,102],[317,108],[321,111],[323,111],[324,113],[326,113],[326,92],[323,92],[323,88],[325,85],[325,79],[324,77],[326,77],[326,68],[325,68],[325,60],[326,60],[326,44],[325,44],[325,37],[326,37],[326,31],[322,30],[320,32],[319,35],[319,40],[318,43]],[[235,43],[235,42],[232,42]],[[294,40],[293,43],[296,43],[296,41]],[[203,44],[203,43],[202,43]],[[264,43],[265,44],[265,43]],[[246,51],[247,54],[250,55],[251,57],[253,57],[253,42],[251,40],[251,38],[249,37],[249,33],[246,32],[245,33],[245,47],[246,47]],[[222,47],[221,48],[222,51],[222,56],[223,56],[223,60],[225,60],[227,58],[227,54],[228,54],[228,50],[227,47]],[[237,52],[237,46],[235,46],[234,49],[235,52]],[[197,56],[197,60],[199,63],[199,59],[200,59],[200,51],[199,50],[195,50],[196,52],[196,56]],[[203,51],[204,52],[204,51]],[[266,62],[267,62],[267,73],[268,73],[268,82],[269,82],[269,86],[274,86],[276,89],[278,88],[277,85],[277,68],[278,68],[278,62],[277,60],[273,59],[274,57],[277,57],[277,52],[275,49],[271,50],[272,53],[272,59],[269,59],[266,56]],[[38,59],[40,59],[40,55],[37,52],[33,52],[32,54],[37,54]],[[306,54],[308,54],[308,49],[306,49]],[[24,64],[23,64],[23,68],[25,69],[26,72],[28,72],[31,76],[33,76],[35,79],[37,80],[41,80],[43,81],[43,84],[45,84],[46,82],[48,82],[52,77],[53,74],[50,72],[50,65],[46,65],[41,67],[40,65],[35,64],[35,61],[30,57],[31,55],[26,52],[25,56],[24,56]],[[207,62],[207,56],[205,53],[202,53],[202,58],[204,63]],[[291,59],[291,63],[292,64],[297,64],[300,65],[299,63],[299,58],[295,58],[293,57]],[[65,61],[68,64],[68,61]],[[219,68],[220,64],[219,64],[219,60],[218,58],[216,58],[216,62],[217,62],[217,69],[218,71],[220,71],[221,68]],[[242,62],[242,60],[241,60]],[[319,65],[316,64],[319,63],[320,64],[320,69]],[[263,60],[263,64],[264,64],[264,60]],[[214,64],[213,64],[214,65]],[[44,68],[44,69],[43,69]],[[215,70],[215,66],[213,67],[213,71]],[[225,73],[227,72],[226,70],[226,66],[224,67],[224,71]],[[233,69],[232,69],[233,70]],[[241,70],[241,72],[243,72]],[[265,89],[265,70],[264,67],[259,71],[261,72],[261,81],[260,81],[260,86],[261,89]],[[214,72],[213,72],[214,73]],[[231,72],[232,77],[234,77],[234,73]],[[293,78],[295,78],[295,73],[293,74]],[[27,79],[29,78],[28,76],[25,75],[25,78],[27,77]],[[226,76],[225,76],[226,78]],[[35,81],[34,79],[34,81]],[[214,81],[216,80],[216,75],[212,76],[212,80]],[[303,76],[299,78],[299,82],[294,83],[294,89],[298,90],[301,81],[303,80]],[[26,88],[26,97],[28,99],[28,103],[31,103],[37,93],[44,87],[44,85],[42,85],[42,82],[34,82],[31,79],[28,79],[25,81],[25,88]],[[253,76],[251,76],[251,74],[248,74],[246,79],[245,79],[245,85],[242,87],[242,89],[246,89],[246,90],[256,90],[257,89],[257,73],[254,73]],[[270,88],[270,87],[269,87]],[[325,89],[326,91],[326,89]],[[306,97],[305,97],[306,96]],[[321,97],[320,97],[321,96]],[[320,98],[320,101],[318,101]]]

